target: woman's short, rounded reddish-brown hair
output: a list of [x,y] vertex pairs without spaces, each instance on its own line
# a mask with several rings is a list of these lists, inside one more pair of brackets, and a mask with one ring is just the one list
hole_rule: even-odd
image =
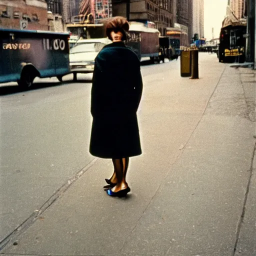
[[121,40],[126,40],[126,32],[129,30],[129,23],[126,18],[122,16],[115,16],[110,18],[106,23],[106,36],[112,40],[111,31],[120,31],[122,33]]

